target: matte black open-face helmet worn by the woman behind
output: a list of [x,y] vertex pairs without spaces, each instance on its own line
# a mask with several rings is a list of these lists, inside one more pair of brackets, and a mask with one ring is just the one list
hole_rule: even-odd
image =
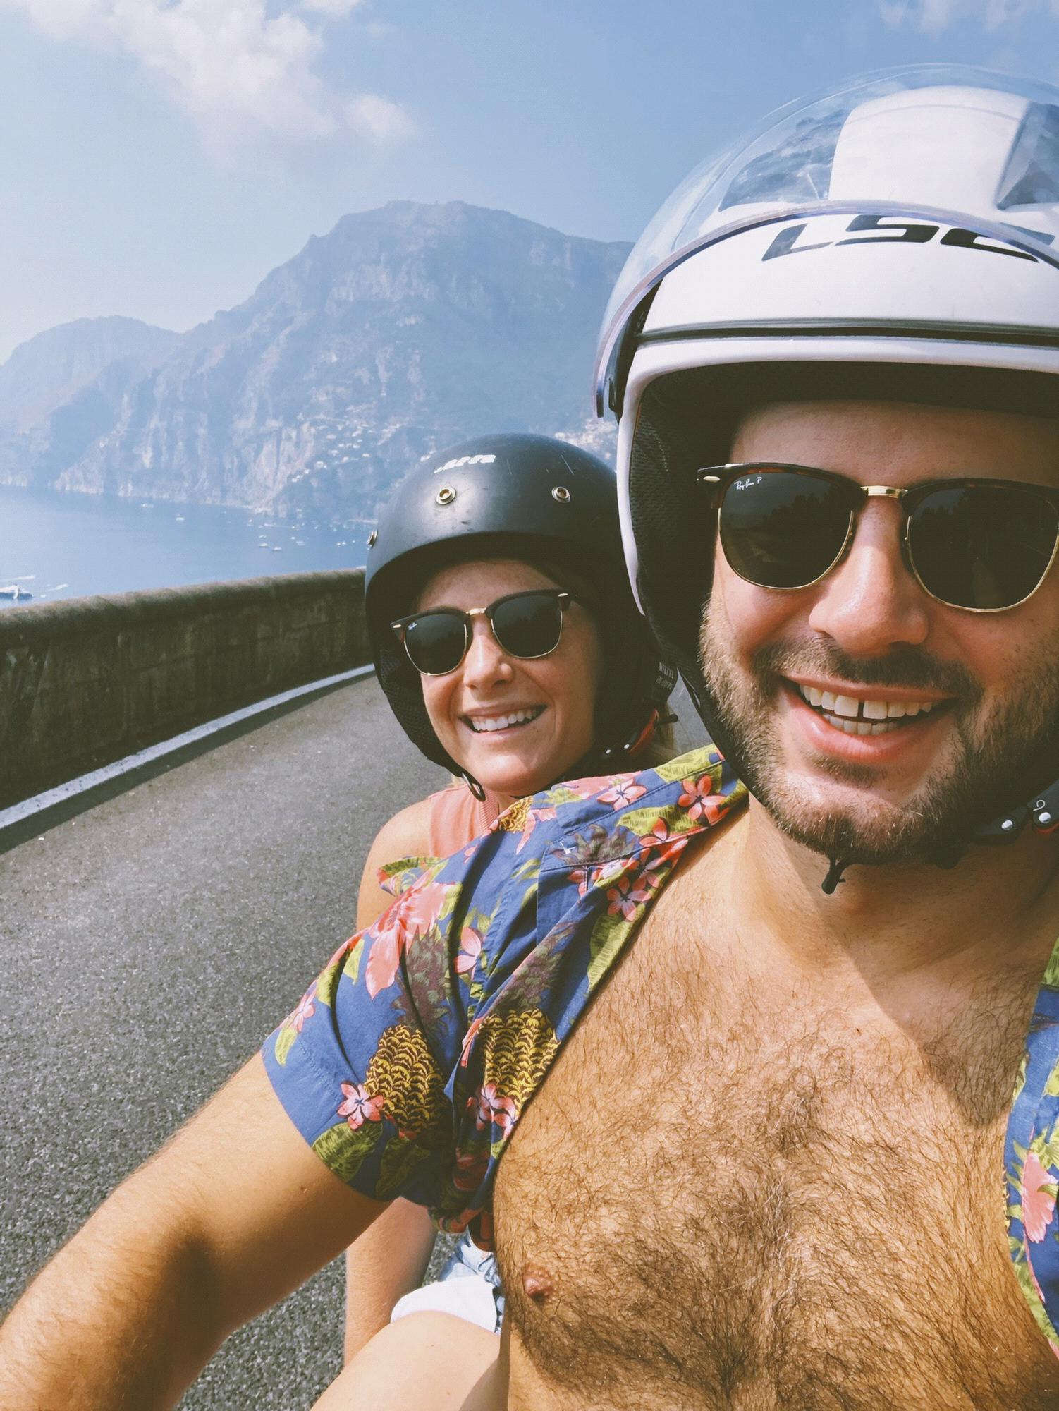
[[368,539],[365,611],[379,683],[405,734],[455,773],[423,704],[419,672],[391,629],[426,580],[450,563],[533,557],[570,566],[594,591],[604,648],[596,744],[573,773],[604,772],[640,741],[675,673],[659,660],[622,555],[611,467],[550,436],[478,436],[422,461]]

